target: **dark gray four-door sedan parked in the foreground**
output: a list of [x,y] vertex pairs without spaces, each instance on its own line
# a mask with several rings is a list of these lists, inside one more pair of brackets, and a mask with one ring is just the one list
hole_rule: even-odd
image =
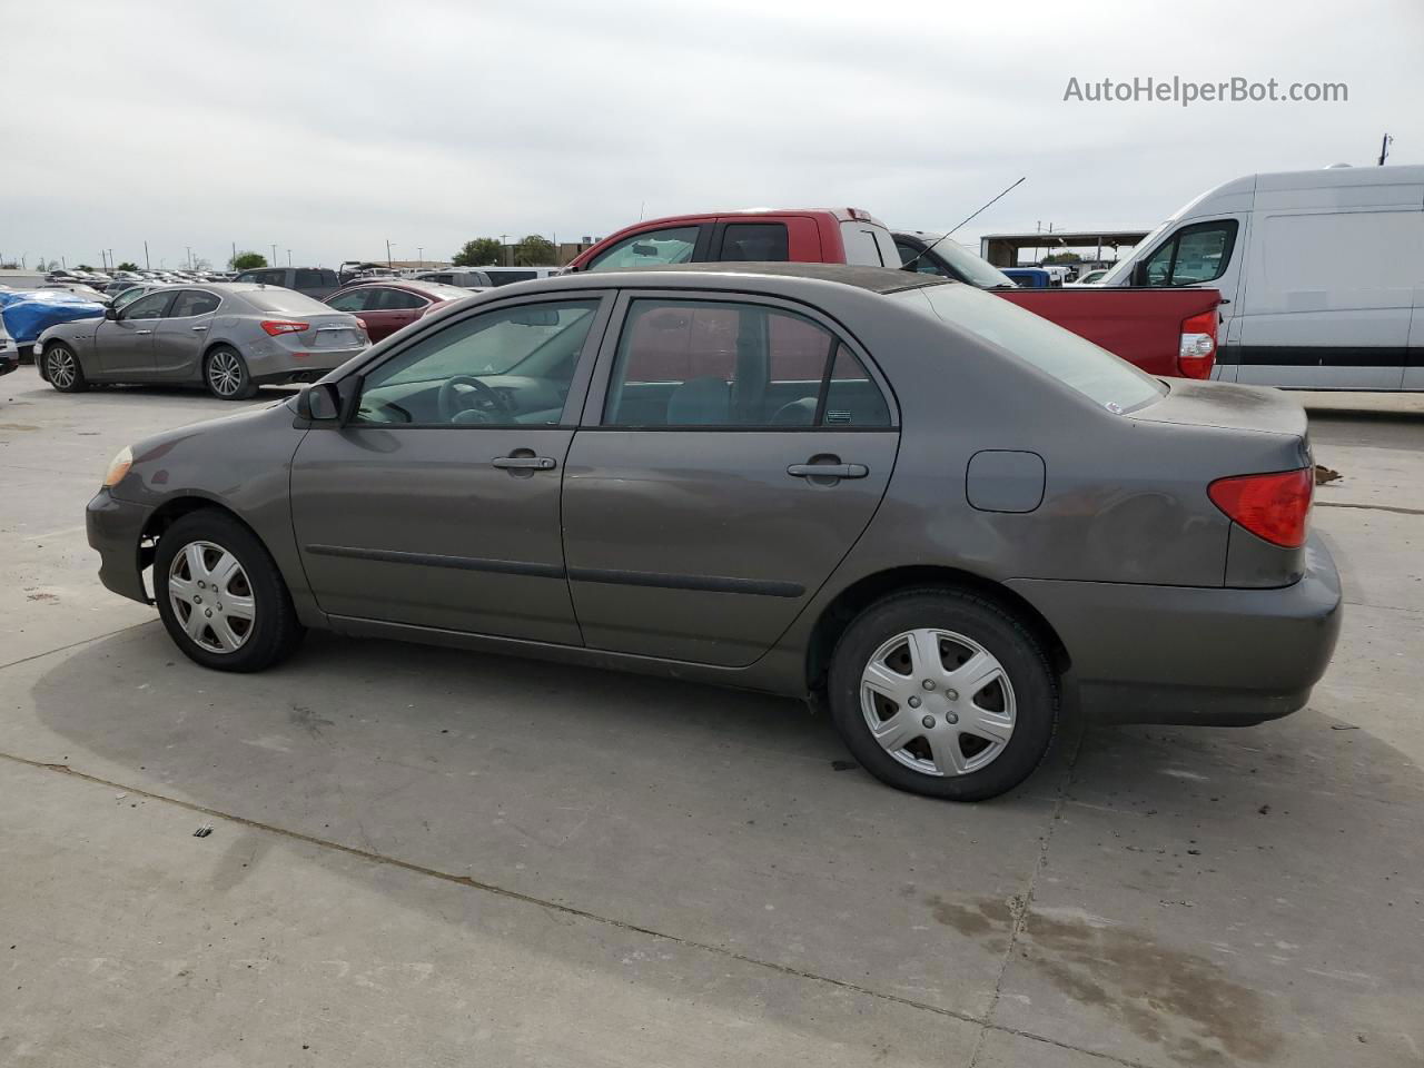
[[928,275],[705,265],[453,303],[124,450],[88,533],[209,668],[322,628],[806,696],[884,782],[974,800],[1069,682],[1115,719],[1302,708],[1341,602],[1312,487],[1274,390]]

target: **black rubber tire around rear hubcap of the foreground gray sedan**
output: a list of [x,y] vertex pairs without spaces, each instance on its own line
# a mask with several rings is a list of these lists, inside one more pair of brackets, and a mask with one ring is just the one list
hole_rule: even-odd
[[[906,698],[907,708],[920,702],[911,718],[918,716],[923,709],[926,713],[923,719],[933,721],[940,733],[920,732],[926,736],[911,739],[904,748],[897,749],[897,755],[891,755],[876,739],[870,718],[889,723],[894,715],[891,709],[899,705],[889,698],[867,695],[870,711],[866,711],[862,703],[862,676],[883,646],[897,635],[916,629],[961,635],[997,658],[1011,691],[1001,689],[1002,682],[991,682],[978,693],[967,695],[967,699],[975,706],[997,705],[997,715],[1004,715],[1002,709],[1010,701],[1012,702],[1012,728],[1007,742],[987,742],[984,738],[960,735],[964,728],[948,726],[951,721],[956,725],[960,722],[960,713],[951,715],[950,709],[964,709],[964,705],[948,702],[951,693],[956,701],[960,695],[943,682],[940,684],[943,692],[927,691],[921,695],[916,691],[914,698]],[[938,651],[944,665],[957,664],[965,652],[973,652],[970,646],[958,645],[950,638],[938,644]],[[891,656],[907,654],[906,649]],[[947,656],[957,659],[950,661]],[[906,678],[913,679],[914,675],[916,672],[910,671]],[[950,588],[891,594],[856,617],[836,644],[827,696],[836,731],[866,770],[901,790],[948,800],[985,800],[1018,786],[1048,755],[1058,728],[1058,678],[1040,641],[1020,619],[994,601]],[[975,718],[975,712],[964,715],[970,719]],[[906,763],[921,755],[924,755],[921,766],[944,763],[940,760],[943,750],[937,753],[928,748],[930,738],[938,739],[940,745],[953,743],[957,759],[964,760],[965,770],[934,775]],[[995,748],[997,755],[991,752]],[[977,759],[987,759],[988,763],[975,768]]]

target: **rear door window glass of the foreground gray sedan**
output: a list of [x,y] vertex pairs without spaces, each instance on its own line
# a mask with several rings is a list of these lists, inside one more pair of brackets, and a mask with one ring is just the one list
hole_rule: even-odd
[[604,424],[625,427],[889,426],[879,384],[840,339],[762,305],[634,300]]

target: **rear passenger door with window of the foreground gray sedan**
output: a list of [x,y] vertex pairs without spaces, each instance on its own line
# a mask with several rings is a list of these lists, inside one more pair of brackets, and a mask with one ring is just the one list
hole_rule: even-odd
[[584,641],[750,664],[874,515],[894,409],[834,328],[787,305],[649,293],[621,306],[564,474]]

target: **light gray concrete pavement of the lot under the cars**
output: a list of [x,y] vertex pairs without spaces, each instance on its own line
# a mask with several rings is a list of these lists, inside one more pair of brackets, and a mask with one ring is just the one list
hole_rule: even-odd
[[763,696],[325,635],[204,672],[83,504],[232,407],[21,369],[0,1064],[1424,1064],[1424,404],[1306,399],[1350,600],[1312,706],[1069,731],[951,806]]

